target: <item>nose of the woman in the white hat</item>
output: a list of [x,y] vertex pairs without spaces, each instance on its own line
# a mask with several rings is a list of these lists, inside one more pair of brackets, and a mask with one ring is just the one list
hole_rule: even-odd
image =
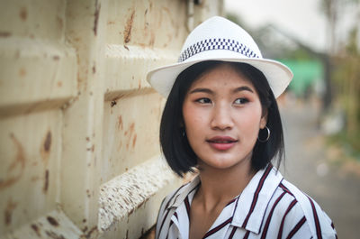
[[226,130],[232,128],[234,122],[229,106],[214,106],[211,114],[211,128]]

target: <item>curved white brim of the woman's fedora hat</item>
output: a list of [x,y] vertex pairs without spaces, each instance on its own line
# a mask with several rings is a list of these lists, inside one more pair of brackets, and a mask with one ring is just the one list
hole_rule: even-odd
[[266,76],[266,79],[269,82],[271,89],[273,90],[275,98],[279,97],[284,92],[285,88],[289,85],[293,78],[293,72],[283,63],[276,60],[217,57],[188,60],[153,69],[148,72],[148,83],[154,87],[160,95],[163,97],[168,97],[171,88],[174,85],[175,79],[182,71],[184,71],[184,69],[187,69],[196,63],[207,60],[247,63],[261,70]]

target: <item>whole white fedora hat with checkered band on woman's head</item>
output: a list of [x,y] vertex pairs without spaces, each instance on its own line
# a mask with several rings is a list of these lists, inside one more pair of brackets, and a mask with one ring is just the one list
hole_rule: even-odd
[[293,78],[293,72],[281,62],[264,59],[257,43],[236,23],[213,16],[189,34],[177,63],[148,72],[148,83],[167,97],[175,79],[184,69],[205,60],[252,65],[266,76],[275,97],[284,92]]

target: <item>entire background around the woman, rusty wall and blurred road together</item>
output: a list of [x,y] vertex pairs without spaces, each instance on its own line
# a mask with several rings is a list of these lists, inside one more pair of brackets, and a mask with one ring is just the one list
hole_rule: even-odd
[[293,70],[281,170],[359,238],[359,0],[0,0],[1,239],[154,238],[184,180],[147,72],[213,15]]

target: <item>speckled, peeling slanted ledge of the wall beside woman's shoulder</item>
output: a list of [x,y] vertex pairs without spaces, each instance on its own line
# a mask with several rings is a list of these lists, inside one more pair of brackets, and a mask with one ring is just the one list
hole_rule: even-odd
[[[145,233],[155,224],[162,198],[179,184],[180,180],[158,158],[108,181],[100,188],[99,230],[117,231],[118,238],[122,238],[118,228],[120,234],[133,238],[129,231],[132,231],[131,221],[136,218],[138,228],[134,232]],[[139,225],[144,225],[142,230]]]

